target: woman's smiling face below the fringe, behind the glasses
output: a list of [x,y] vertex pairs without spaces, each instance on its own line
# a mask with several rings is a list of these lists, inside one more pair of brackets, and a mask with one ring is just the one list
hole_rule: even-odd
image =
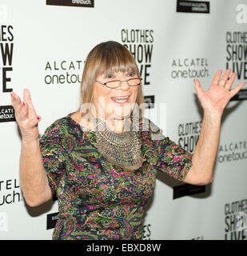
[[[110,82],[114,80],[125,81],[130,78],[138,78],[138,76],[132,71],[125,73],[113,72],[99,75],[96,80],[99,82]],[[122,82],[117,88],[110,89],[99,82],[95,82],[93,95],[93,102],[98,115],[106,119],[123,119],[127,117],[131,110],[133,110],[139,86],[129,86],[128,82]]]

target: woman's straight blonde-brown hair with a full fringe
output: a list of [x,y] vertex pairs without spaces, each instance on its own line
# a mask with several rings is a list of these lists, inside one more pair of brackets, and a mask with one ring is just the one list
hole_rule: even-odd
[[[119,71],[132,71],[134,74],[141,77],[133,55],[119,42],[108,41],[94,46],[86,58],[82,74],[81,102],[79,109],[81,109],[82,104],[93,102],[94,84],[98,75]],[[139,117],[142,118],[144,111],[142,85],[138,86],[135,103],[137,106],[141,106],[138,114]],[[87,109],[86,113],[82,113],[82,117],[88,114],[89,111],[90,110]]]

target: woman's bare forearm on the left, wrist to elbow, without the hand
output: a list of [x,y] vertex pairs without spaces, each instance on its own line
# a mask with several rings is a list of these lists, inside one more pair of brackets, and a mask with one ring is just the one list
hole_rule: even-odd
[[22,140],[20,180],[22,193],[28,205],[38,206],[51,198],[38,140]]

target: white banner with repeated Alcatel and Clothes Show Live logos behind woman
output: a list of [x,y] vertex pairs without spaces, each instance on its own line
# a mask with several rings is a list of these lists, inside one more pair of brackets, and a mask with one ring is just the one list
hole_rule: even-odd
[[[247,2],[149,0],[0,1],[0,239],[51,239],[58,201],[30,207],[19,178],[21,137],[10,92],[28,88],[40,133],[78,109],[87,54],[125,45],[143,78],[145,115],[193,154],[206,90],[219,69],[247,80]],[[143,239],[247,239],[245,87],[227,106],[213,182],[192,186],[157,174]]]

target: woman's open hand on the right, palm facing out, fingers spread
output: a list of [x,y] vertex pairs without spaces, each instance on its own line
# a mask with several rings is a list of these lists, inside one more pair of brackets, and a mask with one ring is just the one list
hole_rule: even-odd
[[[241,88],[245,85],[245,82],[241,82],[231,90],[233,82],[236,78],[236,73],[233,73],[230,78],[230,69],[225,71],[222,78],[221,73],[222,70],[217,70],[209,90],[205,91],[202,89],[199,80],[194,79],[195,89],[197,90],[197,96],[201,102],[201,106],[210,114],[222,114],[230,98],[233,98],[233,96],[237,94],[238,91],[241,90]],[[228,78],[229,80],[227,80]]]

